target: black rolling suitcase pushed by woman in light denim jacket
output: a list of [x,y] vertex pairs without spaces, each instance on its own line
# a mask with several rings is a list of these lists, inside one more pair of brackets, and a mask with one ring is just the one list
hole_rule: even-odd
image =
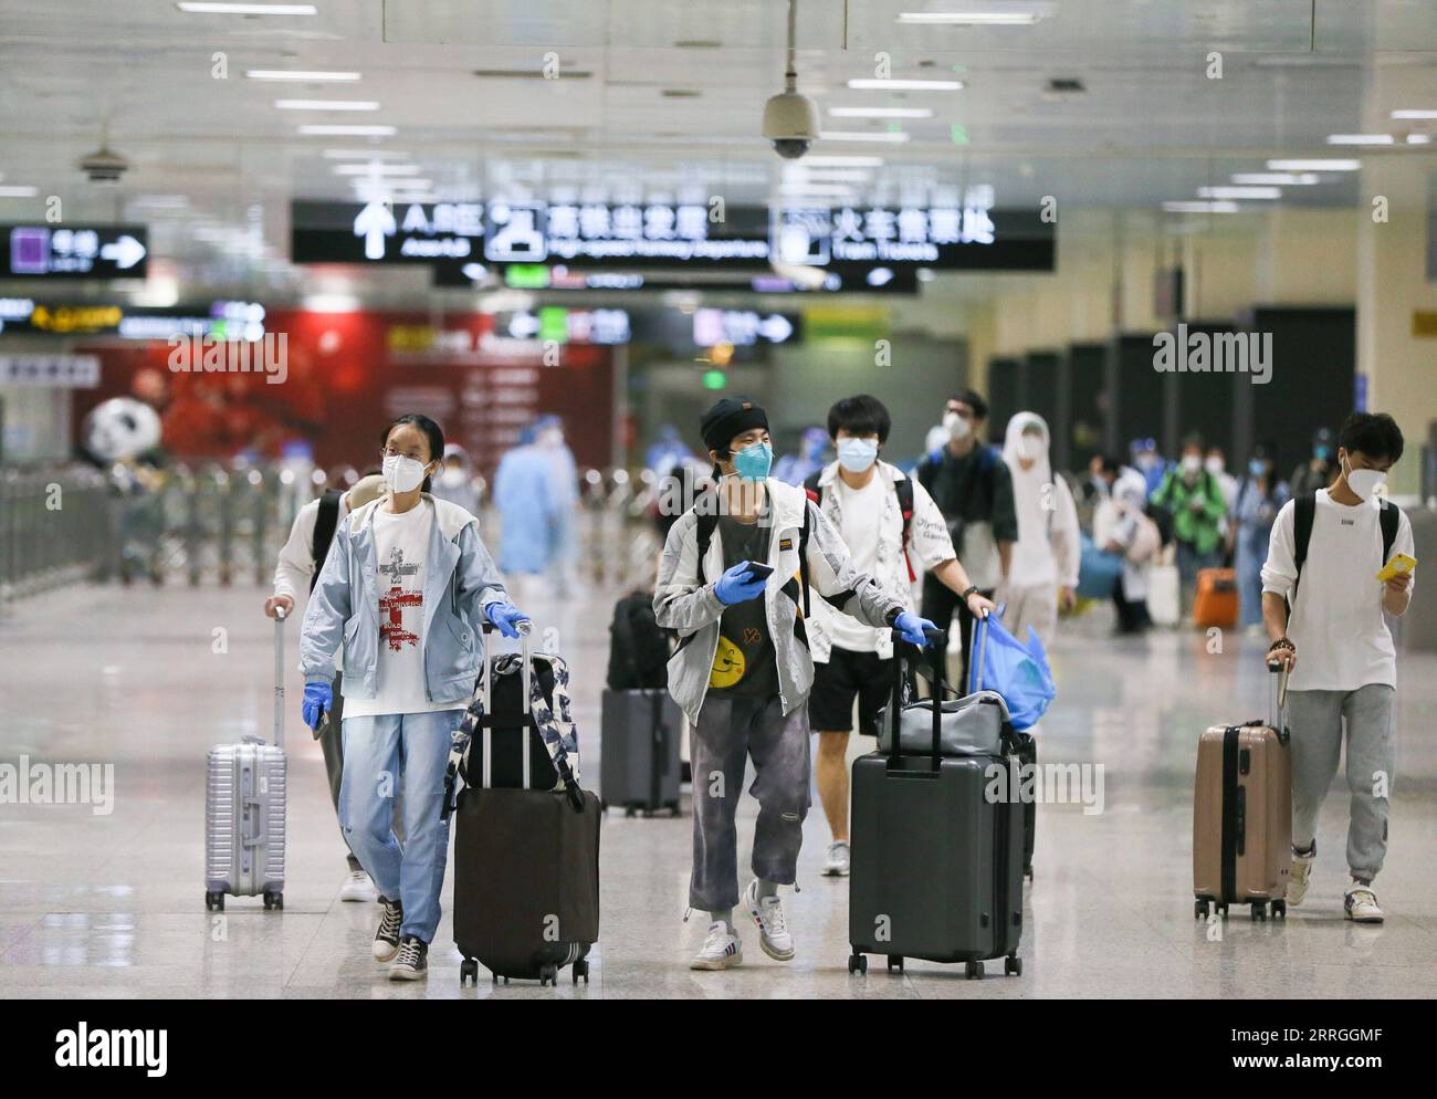
[[[588,983],[585,958],[599,938],[599,799],[579,789],[568,754],[540,736],[529,705],[530,675],[546,661],[530,657],[527,632],[519,667],[499,674],[512,659],[486,664],[481,701],[470,704],[450,753],[447,786],[453,789],[456,773],[466,782],[453,807],[460,984],[479,980],[479,963],[496,983],[556,984],[565,965],[573,967],[575,984],[581,977]],[[506,688],[506,680],[519,690]],[[499,784],[502,776],[512,783]],[[546,784],[536,786],[535,776]],[[445,813],[450,803],[445,790]]]

